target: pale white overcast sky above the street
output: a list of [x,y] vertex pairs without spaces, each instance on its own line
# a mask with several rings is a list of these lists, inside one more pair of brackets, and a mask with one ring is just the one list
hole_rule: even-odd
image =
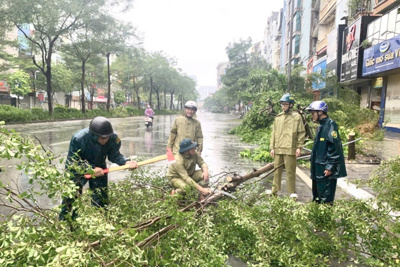
[[126,14],[148,51],[164,51],[198,85],[216,86],[216,67],[228,61],[230,42],[261,40],[272,11],[283,0],[136,0]]

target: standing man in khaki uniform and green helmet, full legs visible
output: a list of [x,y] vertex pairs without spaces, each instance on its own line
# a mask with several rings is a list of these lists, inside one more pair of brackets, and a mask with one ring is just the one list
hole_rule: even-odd
[[[290,197],[297,198],[296,194],[296,157],[301,153],[304,145],[305,129],[301,116],[293,111],[294,97],[284,94],[280,99],[282,111],[274,121],[271,134],[271,156],[274,166],[284,163],[286,168],[287,192]],[[274,173],[272,193],[277,195],[281,189],[282,168]]]

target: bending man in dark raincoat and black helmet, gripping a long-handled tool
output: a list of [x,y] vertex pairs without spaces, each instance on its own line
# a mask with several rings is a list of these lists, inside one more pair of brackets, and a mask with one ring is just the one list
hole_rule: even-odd
[[[94,118],[89,125],[75,133],[69,144],[69,151],[66,161],[66,169],[72,174],[72,180],[79,187],[79,194],[82,194],[83,186],[89,181],[89,188],[94,190],[92,194],[92,205],[104,207],[108,204],[108,176],[103,172],[106,167],[106,158],[118,165],[128,164],[130,169],[137,168],[135,161],[130,161],[120,153],[121,140],[114,133],[111,122],[105,117]],[[94,169],[93,179],[86,179],[82,174],[74,170],[74,166],[89,164]],[[76,197],[75,197],[76,198]],[[64,198],[60,219],[72,209],[75,198]],[[72,218],[77,216],[73,211]]]

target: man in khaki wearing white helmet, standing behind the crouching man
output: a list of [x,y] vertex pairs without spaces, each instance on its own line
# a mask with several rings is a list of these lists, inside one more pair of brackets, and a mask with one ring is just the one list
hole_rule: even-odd
[[177,117],[172,125],[167,147],[171,148],[175,155],[179,153],[179,144],[185,138],[198,144],[197,151],[199,154],[203,151],[203,131],[200,122],[194,118],[196,111],[196,102],[187,101],[184,115]]

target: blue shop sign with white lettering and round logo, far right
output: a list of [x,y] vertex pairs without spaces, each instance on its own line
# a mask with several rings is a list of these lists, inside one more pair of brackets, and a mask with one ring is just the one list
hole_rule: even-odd
[[400,68],[400,35],[364,50],[362,76]]

